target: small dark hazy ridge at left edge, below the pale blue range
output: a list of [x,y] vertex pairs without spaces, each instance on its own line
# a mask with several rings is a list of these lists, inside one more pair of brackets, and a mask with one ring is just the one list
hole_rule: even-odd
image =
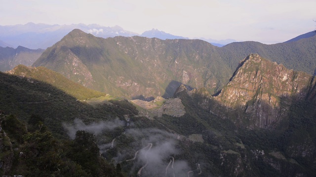
[[13,69],[18,64],[31,66],[44,50],[32,50],[22,46],[16,49],[11,47],[0,47],[0,71],[7,71]]

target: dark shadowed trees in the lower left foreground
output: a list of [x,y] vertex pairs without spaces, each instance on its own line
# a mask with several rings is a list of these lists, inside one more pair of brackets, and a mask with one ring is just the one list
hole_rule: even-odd
[[1,175],[123,177],[113,164],[99,156],[99,148],[92,134],[78,131],[73,141],[59,140],[41,121],[36,123],[36,118],[33,119],[32,124],[39,126],[36,130],[32,129],[33,132],[27,132],[26,125],[15,116],[2,116],[2,132],[5,131],[12,142],[17,142],[11,148],[14,157],[2,161],[2,164],[11,163],[10,171],[0,169]]

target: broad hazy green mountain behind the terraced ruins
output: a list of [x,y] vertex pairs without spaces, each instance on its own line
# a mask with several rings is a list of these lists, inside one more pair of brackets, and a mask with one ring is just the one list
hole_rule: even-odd
[[[183,84],[215,91],[229,78],[216,48],[202,40],[146,37],[97,38],[75,29],[48,48],[44,66],[80,84],[126,98],[170,97]],[[221,73],[221,71],[227,71]]]

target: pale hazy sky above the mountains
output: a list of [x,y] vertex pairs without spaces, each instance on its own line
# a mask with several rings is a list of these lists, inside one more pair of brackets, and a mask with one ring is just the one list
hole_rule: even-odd
[[0,0],[0,25],[98,24],[184,37],[283,42],[316,29],[316,0]]

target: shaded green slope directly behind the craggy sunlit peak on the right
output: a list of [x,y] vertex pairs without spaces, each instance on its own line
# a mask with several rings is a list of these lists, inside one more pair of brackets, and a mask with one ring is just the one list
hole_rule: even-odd
[[221,49],[223,49],[223,55],[230,55],[229,63],[234,70],[241,58],[245,58],[251,53],[257,53],[263,58],[282,63],[289,69],[314,74],[316,69],[315,41],[316,35],[293,42],[271,45],[253,41],[234,42]]

